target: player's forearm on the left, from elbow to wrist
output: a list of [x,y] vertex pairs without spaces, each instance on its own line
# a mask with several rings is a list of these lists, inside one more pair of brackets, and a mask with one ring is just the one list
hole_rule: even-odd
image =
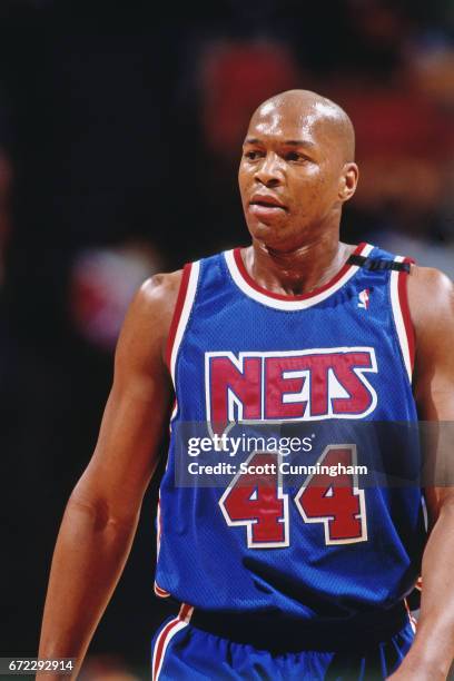
[[70,499],[52,560],[40,659],[77,658],[76,677],[122,572],[137,521],[138,514],[119,522],[106,507]]

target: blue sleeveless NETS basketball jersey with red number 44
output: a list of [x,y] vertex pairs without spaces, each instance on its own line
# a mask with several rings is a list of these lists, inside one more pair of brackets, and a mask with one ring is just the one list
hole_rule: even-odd
[[[379,468],[386,454],[381,435],[358,425],[417,420],[407,272],[386,266],[404,258],[368,244],[354,256],[300,296],[258,286],[240,249],[185,267],[168,348],[176,405],[160,486],[158,595],[204,611],[314,621],[386,610],[412,590],[424,543],[420,487],[362,485],[356,472]],[[307,474],[295,468],[286,484],[290,464],[279,452],[253,451],[244,470],[218,452],[230,464],[224,488],[178,484],[180,426],[208,424],[213,437],[235,433],[233,422],[255,435],[259,424],[280,434],[304,425],[297,461]],[[197,457],[184,455],[197,471]],[[395,456],[413,480],[411,434]],[[263,487],[249,464],[269,464]],[[337,487],[327,473],[336,466]]]

